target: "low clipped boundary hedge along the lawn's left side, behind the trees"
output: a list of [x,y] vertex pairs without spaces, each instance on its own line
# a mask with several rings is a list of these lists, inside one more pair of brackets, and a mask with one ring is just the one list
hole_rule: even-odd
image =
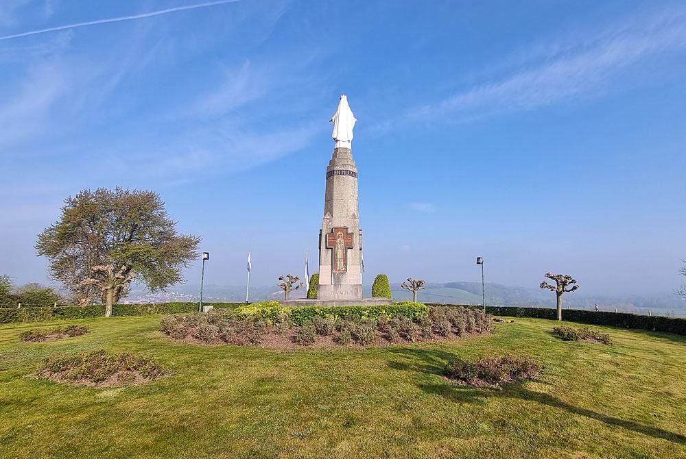
[[[245,303],[202,303],[204,306],[214,306],[215,309],[234,309]],[[147,304],[115,304],[113,316],[147,316],[152,314],[185,314],[196,312],[198,303],[147,303]],[[57,306],[56,308],[2,308],[0,309],[0,323],[39,322],[54,319],[88,319],[89,317],[104,317],[103,304],[88,306]]]

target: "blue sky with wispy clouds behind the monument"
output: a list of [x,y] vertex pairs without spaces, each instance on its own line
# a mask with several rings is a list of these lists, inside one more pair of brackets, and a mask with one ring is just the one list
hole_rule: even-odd
[[0,273],[48,282],[36,234],[117,185],[202,236],[206,282],[244,283],[248,249],[257,284],[316,271],[345,93],[366,283],[484,256],[490,282],[669,293],[685,81],[682,1],[3,0]]

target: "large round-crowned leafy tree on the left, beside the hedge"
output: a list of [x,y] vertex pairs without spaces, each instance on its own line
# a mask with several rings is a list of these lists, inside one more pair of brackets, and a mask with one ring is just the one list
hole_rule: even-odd
[[75,299],[100,299],[109,317],[134,278],[151,291],[182,282],[181,269],[196,258],[199,243],[176,232],[159,195],[117,187],[65,199],[60,220],[38,235],[36,251]]

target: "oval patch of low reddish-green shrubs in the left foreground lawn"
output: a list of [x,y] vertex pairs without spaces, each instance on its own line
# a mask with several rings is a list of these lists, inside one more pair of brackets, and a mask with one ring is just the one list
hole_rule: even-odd
[[54,356],[46,358],[39,376],[72,382],[75,384],[128,385],[135,382],[152,381],[167,374],[153,360],[134,356],[130,352],[106,353],[97,349],[76,356]]

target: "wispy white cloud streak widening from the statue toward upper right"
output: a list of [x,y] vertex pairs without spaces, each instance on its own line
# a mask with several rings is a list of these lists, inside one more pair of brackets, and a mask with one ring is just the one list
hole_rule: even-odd
[[[410,108],[399,119],[385,121],[377,131],[387,131],[398,123],[440,119],[450,122],[472,121],[487,116],[535,110],[555,103],[593,97],[602,93],[629,66],[670,51],[686,49],[683,10],[657,14],[604,31],[591,42],[576,45],[540,46],[532,51],[531,64],[521,55],[514,73],[497,81],[477,84],[441,101]],[[587,36],[587,34],[579,34]]]

